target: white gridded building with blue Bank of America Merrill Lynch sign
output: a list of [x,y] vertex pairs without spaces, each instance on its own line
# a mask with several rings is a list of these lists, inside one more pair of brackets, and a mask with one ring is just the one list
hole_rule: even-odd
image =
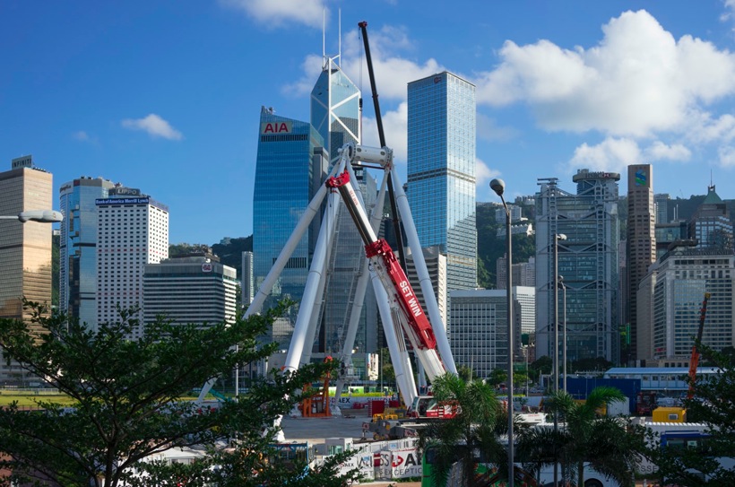
[[[119,321],[118,308],[143,308],[146,264],[169,257],[169,208],[138,189],[117,187],[97,205],[97,326]],[[143,320],[144,310],[137,318]],[[138,326],[132,339],[139,338]]]

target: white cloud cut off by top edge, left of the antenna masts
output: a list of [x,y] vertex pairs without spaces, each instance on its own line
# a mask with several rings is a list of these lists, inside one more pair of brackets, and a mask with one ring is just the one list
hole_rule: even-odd
[[297,22],[321,29],[324,19],[321,0],[220,0],[220,4],[245,12],[266,28]]

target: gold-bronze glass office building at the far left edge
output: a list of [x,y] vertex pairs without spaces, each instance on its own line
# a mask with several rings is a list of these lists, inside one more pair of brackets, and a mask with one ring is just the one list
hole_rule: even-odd
[[[53,177],[33,164],[32,156],[11,161],[0,172],[0,215],[52,208]],[[51,309],[51,235],[48,223],[0,220],[0,317],[29,318],[22,298]],[[0,361],[0,380],[22,384],[27,372]]]

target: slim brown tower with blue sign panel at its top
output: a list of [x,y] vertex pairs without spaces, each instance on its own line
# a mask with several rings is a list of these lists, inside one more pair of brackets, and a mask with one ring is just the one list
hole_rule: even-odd
[[637,300],[641,279],[656,261],[656,213],[653,204],[653,166],[636,164],[627,167],[627,324],[630,349],[623,360],[637,359]]

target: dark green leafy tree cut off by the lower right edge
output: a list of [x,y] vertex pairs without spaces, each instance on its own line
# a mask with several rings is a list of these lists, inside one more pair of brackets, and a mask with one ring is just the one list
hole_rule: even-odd
[[[735,485],[735,470],[718,458],[735,458],[735,361],[728,351],[697,344],[703,358],[719,372],[697,376],[694,397],[685,401],[687,416],[708,424],[710,438],[696,448],[660,448],[651,443],[649,457],[659,466],[662,482],[709,487]],[[731,462],[731,460],[729,460]],[[728,468],[729,467],[729,468]]]

